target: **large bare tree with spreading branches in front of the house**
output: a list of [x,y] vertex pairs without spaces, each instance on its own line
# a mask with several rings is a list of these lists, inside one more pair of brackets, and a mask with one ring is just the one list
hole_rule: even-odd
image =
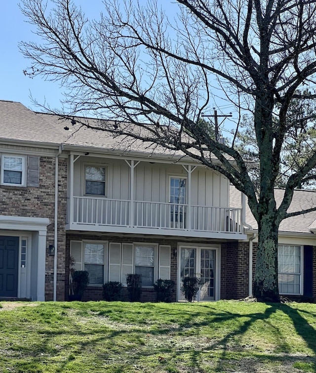
[[[155,0],[114,0],[104,1],[99,20],[88,21],[70,0],[22,0],[41,38],[20,45],[32,61],[26,74],[59,81],[69,114],[93,113],[101,119],[97,129],[181,150],[245,193],[259,227],[254,295],[278,301],[279,224],[316,209],[287,212],[294,189],[315,176],[315,148],[287,176],[278,208],[274,198],[280,153],[295,126],[287,119],[290,103],[305,98],[298,90],[315,81],[316,0],[176,2],[176,19]],[[200,125],[216,87],[252,111],[258,195],[236,148],[218,143]]]

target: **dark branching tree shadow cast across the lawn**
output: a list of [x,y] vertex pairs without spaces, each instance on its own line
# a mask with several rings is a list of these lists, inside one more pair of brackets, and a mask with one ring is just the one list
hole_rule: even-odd
[[[216,356],[218,357],[217,365],[214,367],[214,371],[223,371],[223,367],[225,367],[225,364],[229,360],[234,360],[232,356],[232,352],[236,352],[235,356],[237,360],[242,359],[245,354],[245,351],[249,351],[249,359],[252,359],[253,363],[262,364],[263,360],[265,361],[271,361],[279,363],[280,361],[285,361],[287,359],[286,357],[286,351],[291,350],[291,346],[287,344],[285,341],[283,335],[282,335],[282,325],[278,327],[274,326],[270,321],[269,318],[276,313],[276,311],[281,310],[284,314],[288,315],[293,320],[293,325],[298,332],[298,334],[307,342],[308,346],[316,352],[316,346],[315,341],[313,340],[313,332],[315,333],[315,330],[313,327],[311,327],[308,322],[299,314],[298,310],[293,309],[286,305],[281,304],[267,304],[267,308],[264,312],[258,312],[258,313],[250,313],[250,314],[243,314],[240,315],[239,313],[233,313],[228,311],[221,311],[218,312],[218,309],[213,309],[211,306],[207,305],[209,309],[212,309],[212,313],[210,313],[210,318],[208,319],[205,317],[205,313],[198,312],[197,307],[192,307],[189,310],[181,310],[181,309],[173,309],[172,311],[169,310],[169,316],[174,316],[175,321],[178,321],[178,318],[182,318],[182,322],[178,323],[178,326],[174,325],[163,325],[163,327],[159,326],[156,329],[150,329],[143,328],[140,324],[132,327],[131,329],[124,329],[121,328],[119,330],[105,330],[104,334],[100,332],[100,330],[97,330],[96,334],[91,337],[91,331],[90,332],[81,332],[78,331],[78,334],[81,337],[81,340],[76,341],[76,346],[79,348],[79,351],[84,351],[85,349],[93,349],[93,346],[96,346],[100,342],[109,342],[111,341],[112,348],[115,349],[116,346],[118,346],[119,351],[119,340],[116,340],[117,337],[123,337],[126,335],[127,343],[128,343],[128,337],[131,333],[135,333],[135,345],[136,347],[131,347],[130,354],[129,355],[129,363],[132,361],[133,363],[137,363],[140,360],[142,360],[144,357],[148,357],[149,359],[155,358],[155,356],[163,355],[163,354],[169,354],[170,358],[168,357],[168,360],[179,360],[179,357],[186,355],[186,359],[188,360],[188,354],[191,355],[190,357],[190,366],[195,367],[197,369],[200,369],[201,362],[203,361],[203,357],[205,357],[205,352],[216,352]],[[215,311],[215,312],[214,312]],[[170,315],[171,313],[171,315]],[[136,314],[139,314],[139,311],[136,312]],[[150,312],[145,312],[146,317],[150,318]],[[96,318],[98,317],[108,317],[110,316],[108,312],[99,312],[98,314],[94,315]],[[136,315],[135,315],[136,316]],[[145,317],[145,319],[146,319]],[[198,318],[202,318],[201,321],[197,321]],[[241,320],[246,319],[244,322]],[[136,319],[138,317],[136,316]],[[169,319],[169,321],[172,320]],[[236,340],[238,337],[242,337],[242,335],[249,330],[249,328],[257,321],[263,321],[266,323],[267,327],[270,329],[270,334],[273,336],[273,338],[276,341],[276,345],[278,346],[275,352],[284,352],[284,356],[274,355],[274,354],[266,354],[266,353],[260,353],[256,352],[251,347],[248,347],[248,350],[244,350],[241,346],[241,343],[239,343],[239,346],[237,349],[234,350],[234,347],[232,347],[232,342],[238,345]],[[111,318],[109,318],[109,321],[111,321]],[[136,320],[135,320],[136,321]],[[137,320],[138,321],[138,320]],[[167,345],[165,346],[157,346],[153,349],[148,348],[146,346],[146,343],[140,343],[142,345],[138,345],[139,341],[142,340],[143,337],[145,337],[146,340],[146,334],[156,336],[159,338],[161,335],[170,335],[171,337],[179,337],[179,336],[188,336],[190,338],[190,335],[188,332],[192,333],[191,335],[197,336],[195,334],[199,331],[200,327],[204,327],[210,324],[217,324],[217,325],[225,325],[225,323],[229,323],[232,321],[234,325],[234,330],[231,332],[228,332],[225,334],[224,337],[219,338],[217,340],[214,340],[211,342],[211,345],[208,345],[208,347],[202,349],[202,350],[195,350],[192,347],[184,348],[184,349],[177,349],[177,348],[168,348]],[[119,323],[119,322],[118,322]],[[240,325],[241,323],[241,325]],[[155,324],[155,323],[154,323]],[[145,324],[148,326],[147,324]],[[149,324],[150,325],[150,324]],[[232,330],[232,327],[230,328]],[[93,334],[93,332],[92,332]],[[85,336],[90,335],[89,338],[85,338]],[[67,344],[66,344],[67,345]],[[74,342],[69,341],[68,348],[72,350],[72,346],[74,345]],[[133,346],[133,343],[131,341],[131,346]],[[113,356],[114,352],[111,348],[111,351],[109,353],[107,352],[96,352],[96,357],[100,360],[106,360],[109,356]],[[243,354],[242,354],[243,352]],[[70,354],[70,358],[73,359],[73,355]],[[239,354],[239,355],[238,355]],[[186,360],[184,359],[184,360]],[[119,359],[118,359],[119,360]],[[181,359],[180,359],[181,360]],[[302,361],[302,357],[294,357],[291,358],[292,362],[294,361]],[[69,361],[64,361],[63,367],[65,367],[68,364]],[[313,363],[314,364],[314,363]],[[255,368],[253,370],[255,372]]]

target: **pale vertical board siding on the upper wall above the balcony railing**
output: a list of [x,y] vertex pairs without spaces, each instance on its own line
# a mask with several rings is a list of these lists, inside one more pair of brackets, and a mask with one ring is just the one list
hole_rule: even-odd
[[[80,157],[74,164],[74,195],[84,193],[84,164],[106,166],[106,197],[130,200],[130,167],[124,160]],[[140,162],[134,169],[134,200],[169,202],[169,176],[187,177],[181,165]],[[192,172],[192,205],[227,207],[228,180],[217,172],[197,167]]]

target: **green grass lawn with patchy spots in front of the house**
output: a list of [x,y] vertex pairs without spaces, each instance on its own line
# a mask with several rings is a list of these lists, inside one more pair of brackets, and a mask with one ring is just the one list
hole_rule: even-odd
[[316,305],[2,302],[0,372],[316,372]]

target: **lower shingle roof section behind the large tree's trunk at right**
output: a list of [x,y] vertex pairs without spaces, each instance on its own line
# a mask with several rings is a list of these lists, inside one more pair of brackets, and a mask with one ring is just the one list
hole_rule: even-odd
[[[276,206],[280,206],[283,199],[284,189],[275,189]],[[233,186],[230,187],[230,206],[241,207],[240,192]],[[291,205],[287,212],[295,212],[303,209],[316,207],[316,191],[297,189],[294,191]],[[253,229],[258,229],[258,224],[248,206],[246,197],[246,223]],[[292,216],[281,221],[279,232],[311,233],[316,228],[316,211],[303,215]]]

